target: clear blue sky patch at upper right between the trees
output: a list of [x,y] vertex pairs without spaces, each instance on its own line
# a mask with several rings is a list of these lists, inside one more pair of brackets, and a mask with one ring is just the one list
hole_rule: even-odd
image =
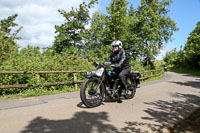
[[167,43],[163,51],[180,49],[187,42],[189,34],[200,21],[200,0],[174,0],[170,6],[170,17],[175,21],[179,31],[174,32],[173,41]]

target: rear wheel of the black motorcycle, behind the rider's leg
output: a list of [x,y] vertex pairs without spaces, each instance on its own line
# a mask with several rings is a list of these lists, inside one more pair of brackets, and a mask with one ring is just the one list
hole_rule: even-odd
[[131,99],[135,96],[135,93],[136,93],[136,82],[135,82],[135,80],[128,77],[127,83],[128,83],[130,90],[126,90],[124,97],[126,99]]

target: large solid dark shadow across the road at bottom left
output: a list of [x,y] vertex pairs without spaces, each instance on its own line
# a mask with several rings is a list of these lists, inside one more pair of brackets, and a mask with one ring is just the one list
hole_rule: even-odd
[[66,120],[48,120],[42,117],[33,119],[21,133],[113,133],[117,129],[106,124],[109,122],[108,113],[76,113],[73,118]]

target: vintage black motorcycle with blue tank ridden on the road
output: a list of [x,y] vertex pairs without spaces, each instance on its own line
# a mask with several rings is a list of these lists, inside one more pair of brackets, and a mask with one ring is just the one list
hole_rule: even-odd
[[132,72],[126,77],[129,89],[125,90],[116,73],[107,70],[112,66],[110,62],[95,62],[94,66],[96,71],[88,71],[87,79],[81,85],[80,97],[84,105],[92,108],[101,105],[105,99],[117,99],[121,96],[131,99],[135,96],[140,78],[138,72]]

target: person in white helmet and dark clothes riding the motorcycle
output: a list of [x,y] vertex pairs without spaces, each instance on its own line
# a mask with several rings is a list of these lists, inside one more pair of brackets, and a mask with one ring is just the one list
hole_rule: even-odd
[[[106,62],[112,63],[111,66],[114,67],[114,71],[123,83],[124,88],[126,90],[131,89],[126,81],[126,76],[131,72],[131,66],[125,51],[122,49],[123,44],[120,40],[115,40],[111,43],[111,46],[113,47],[113,52]],[[120,98],[118,102],[121,102]]]

